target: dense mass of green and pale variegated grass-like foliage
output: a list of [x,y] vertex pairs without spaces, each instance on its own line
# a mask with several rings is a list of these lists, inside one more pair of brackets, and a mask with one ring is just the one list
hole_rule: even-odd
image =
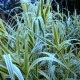
[[[79,80],[80,15],[51,10],[51,0],[21,0],[23,12],[0,19],[1,80]],[[16,23],[15,23],[16,21]],[[15,24],[14,24],[15,23]],[[14,24],[14,25],[13,25]]]

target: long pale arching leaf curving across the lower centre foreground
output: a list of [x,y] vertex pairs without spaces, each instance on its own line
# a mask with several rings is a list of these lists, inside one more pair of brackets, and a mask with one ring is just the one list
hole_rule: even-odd
[[[41,57],[41,58],[38,58],[38,59],[36,59],[36,60],[34,60],[33,61],[33,63],[30,65],[30,67],[29,67],[29,71],[31,70],[31,69],[33,69],[33,67],[36,65],[36,64],[38,64],[39,62],[41,62],[41,61],[52,61],[52,62],[57,62],[59,65],[61,65],[61,66],[63,66],[63,67],[65,67],[67,70],[69,70],[71,73],[73,73],[73,74],[75,74],[73,71],[71,71],[66,65],[64,65],[59,59],[57,59],[56,57],[55,57],[55,54],[49,54],[48,52],[43,52],[43,54],[46,54],[46,55],[48,55],[49,57]],[[76,75],[76,74],[75,74]]]

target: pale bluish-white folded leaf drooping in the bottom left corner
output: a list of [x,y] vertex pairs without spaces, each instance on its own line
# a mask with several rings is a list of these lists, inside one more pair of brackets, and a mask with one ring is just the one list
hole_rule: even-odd
[[9,72],[9,75],[10,75],[11,80],[15,80],[14,73],[16,74],[16,76],[18,77],[19,80],[24,80],[24,78],[23,78],[20,70],[17,68],[17,66],[15,66],[12,63],[10,54],[3,55],[3,57],[5,59],[5,62],[6,62],[7,69],[8,69],[8,72]]

